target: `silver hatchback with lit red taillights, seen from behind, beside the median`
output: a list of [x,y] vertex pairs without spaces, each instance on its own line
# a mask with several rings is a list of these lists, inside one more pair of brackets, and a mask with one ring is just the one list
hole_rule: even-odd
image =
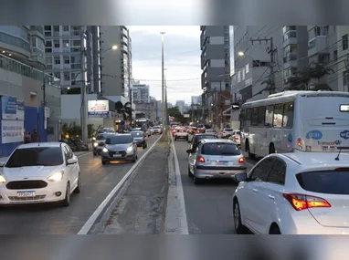
[[233,180],[235,174],[247,171],[246,159],[230,140],[203,139],[186,152],[189,154],[188,175],[195,184],[204,179]]

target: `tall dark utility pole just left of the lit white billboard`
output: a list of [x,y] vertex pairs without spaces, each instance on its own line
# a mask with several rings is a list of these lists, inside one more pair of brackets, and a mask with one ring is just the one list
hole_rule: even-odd
[[82,141],[85,145],[88,145],[88,108],[87,108],[87,95],[86,95],[86,80],[85,80],[85,33],[86,26],[81,26],[81,135]]

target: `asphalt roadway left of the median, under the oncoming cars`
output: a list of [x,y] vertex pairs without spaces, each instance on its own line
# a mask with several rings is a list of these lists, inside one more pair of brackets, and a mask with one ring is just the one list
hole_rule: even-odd
[[[148,140],[148,148],[158,136]],[[138,157],[143,156],[138,148]],[[18,205],[0,209],[0,234],[78,234],[133,163],[102,165],[92,153],[79,157],[82,191],[73,194],[69,207],[57,204]]]

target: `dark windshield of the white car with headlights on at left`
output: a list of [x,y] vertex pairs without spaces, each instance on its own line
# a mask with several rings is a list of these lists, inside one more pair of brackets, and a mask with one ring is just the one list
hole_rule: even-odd
[[17,149],[5,167],[29,167],[29,166],[58,166],[63,164],[63,155],[60,147],[31,147]]

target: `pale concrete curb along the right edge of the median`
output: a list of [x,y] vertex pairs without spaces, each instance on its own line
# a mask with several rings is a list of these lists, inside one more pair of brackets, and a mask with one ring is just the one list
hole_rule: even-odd
[[189,234],[188,223],[186,220],[186,210],[185,210],[185,193],[183,192],[182,175],[179,168],[179,162],[177,157],[177,152],[174,147],[174,138],[171,135],[172,149],[174,152],[174,169],[175,169],[175,180],[177,186],[177,198],[179,201],[179,221],[181,226],[179,227],[180,234]]

